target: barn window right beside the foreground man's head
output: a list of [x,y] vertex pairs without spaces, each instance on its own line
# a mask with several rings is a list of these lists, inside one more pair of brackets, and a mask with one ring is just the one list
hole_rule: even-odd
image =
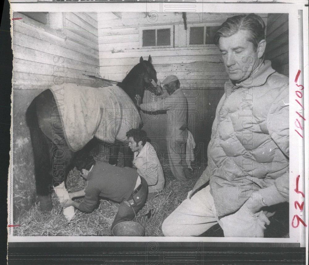
[[187,32],[187,45],[198,46],[214,44],[214,34],[220,26],[197,25],[189,26]]

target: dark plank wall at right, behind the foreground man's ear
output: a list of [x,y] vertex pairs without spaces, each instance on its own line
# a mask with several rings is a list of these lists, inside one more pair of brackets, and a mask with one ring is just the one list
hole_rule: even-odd
[[265,59],[271,60],[272,67],[289,76],[289,14],[269,14],[266,31]]

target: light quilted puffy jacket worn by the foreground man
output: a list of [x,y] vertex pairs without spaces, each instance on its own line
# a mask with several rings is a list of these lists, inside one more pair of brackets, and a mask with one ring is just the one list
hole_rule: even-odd
[[226,82],[207,155],[193,193],[210,180],[218,216],[237,211],[254,191],[268,206],[288,200],[289,80],[270,61],[239,85]]

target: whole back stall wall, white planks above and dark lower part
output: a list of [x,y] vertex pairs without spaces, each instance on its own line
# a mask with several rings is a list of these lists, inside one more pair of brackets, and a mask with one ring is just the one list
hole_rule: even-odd
[[[182,13],[157,14],[154,20],[143,12],[98,13],[98,38],[100,74],[102,77],[121,81],[140,56],[149,54],[159,80],[168,75],[176,75],[189,104],[189,129],[193,132],[197,146],[202,144],[202,155],[206,155],[210,140],[215,109],[224,93],[224,83],[228,80],[221,53],[217,46],[206,45],[187,47],[187,31],[184,29]],[[187,13],[187,25],[222,24],[231,13]],[[267,14],[259,14],[267,24]],[[174,29],[174,47],[143,48],[140,38],[143,28],[171,26]],[[164,114],[150,117],[142,113],[144,129],[157,146],[159,157],[166,152]],[[160,126],[160,127],[159,127]],[[160,128],[158,130],[158,128]],[[198,148],[198,147],[197,147]]]

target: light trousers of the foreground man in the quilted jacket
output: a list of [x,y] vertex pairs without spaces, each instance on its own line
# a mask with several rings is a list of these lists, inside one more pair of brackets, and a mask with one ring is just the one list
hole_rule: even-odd
[[269,220],[263,211],[253,214],[246,207],[219,219],[208,185],[185,199],[164,220],[162,232],[166,237],[199,236],[217,223],[225,237],[264,237]]

